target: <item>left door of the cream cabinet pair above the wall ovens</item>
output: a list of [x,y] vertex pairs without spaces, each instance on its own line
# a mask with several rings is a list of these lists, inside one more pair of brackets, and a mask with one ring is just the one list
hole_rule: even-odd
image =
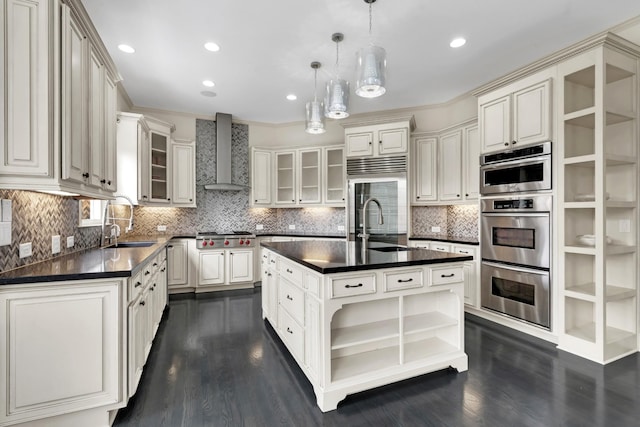
[[482,152],[496,151],[511,142],[511,96],[503,96],[480,105]]

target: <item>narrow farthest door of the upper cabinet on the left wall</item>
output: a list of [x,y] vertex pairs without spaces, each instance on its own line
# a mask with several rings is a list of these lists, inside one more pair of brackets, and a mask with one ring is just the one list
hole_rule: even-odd
[[115,192],[118,176],[118,160],[117,160],[117,96],[115,80],[109,75],[104,74],[104,179],[105,183],[102,188]]

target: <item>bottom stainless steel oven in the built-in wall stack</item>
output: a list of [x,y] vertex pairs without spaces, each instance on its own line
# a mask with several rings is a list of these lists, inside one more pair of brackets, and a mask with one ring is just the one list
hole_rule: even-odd
[[548,271],[483,261],[481,277],[482,307],[550,327]]

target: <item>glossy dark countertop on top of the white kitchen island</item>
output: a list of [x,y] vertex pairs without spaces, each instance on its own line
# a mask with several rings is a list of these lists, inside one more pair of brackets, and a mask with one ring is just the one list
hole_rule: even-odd
[[469,255],[417,248],[382,252],[376,250],[376,248],[406,247],[378,242],[370,242],[369,249],[366,251],[366,259],[364,260],[361,253],[360,242],[265,242],[261,243],[261,246],[322,274],[471,261],[473,259],[473,257]]

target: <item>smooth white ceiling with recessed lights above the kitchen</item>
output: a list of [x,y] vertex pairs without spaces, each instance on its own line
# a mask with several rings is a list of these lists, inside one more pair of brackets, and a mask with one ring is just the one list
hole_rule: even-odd
[[[335,70],[355,78],[355,52],[368,43],[363,0],[83,0],[137,107],[265,123],[304,120]],[[387,50],[387,93],[352,113],[424,106],[459,95],[588,36],[640,15],[638,0],[379,0],[373,38]],[[468,42],[451,49],[449,42]],[[207,41],[221,50],[208,52]],[[638,42],[638,41],[636,41]],[[125,54],[121,43],[136,52]],[[210,79],[212,89],[202,85]],[[201,92],[213,91],[215,97]],[[297,101],[287,101],[289,93]]]

